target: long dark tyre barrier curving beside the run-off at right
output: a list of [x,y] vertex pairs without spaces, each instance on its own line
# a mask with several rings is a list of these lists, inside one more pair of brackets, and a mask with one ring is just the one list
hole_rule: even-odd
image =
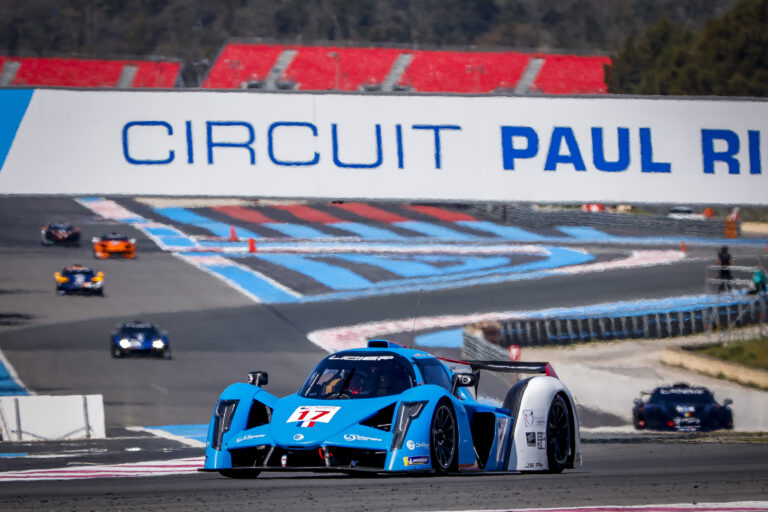
[[[689,310],[659,311],[639,315],[590,316],[576,318],[510,318],[470,325],[464,332],[475,333],[502,350],[510,345],[567,345],[589,341],[638,338],[669,338],[712,330],[730,330],[762,323],[768,318],[768,297],[734,298],[719,306]],[[466,343],[465,336],[465,343]]]

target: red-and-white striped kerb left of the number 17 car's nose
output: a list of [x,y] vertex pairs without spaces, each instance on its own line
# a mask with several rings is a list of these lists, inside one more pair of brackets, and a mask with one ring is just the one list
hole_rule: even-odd
[[0,482],[182,475],[196,473],[199,468],[203,467],[203,462],[204,457],[189,457],[185,459],[130,462],[104,466],[6,471],[0,472]]

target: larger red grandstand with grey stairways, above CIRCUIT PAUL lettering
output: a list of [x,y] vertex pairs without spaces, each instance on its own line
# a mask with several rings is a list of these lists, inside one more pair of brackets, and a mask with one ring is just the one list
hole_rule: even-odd
[[605,94],[604,56],[229,43],[206,89]]

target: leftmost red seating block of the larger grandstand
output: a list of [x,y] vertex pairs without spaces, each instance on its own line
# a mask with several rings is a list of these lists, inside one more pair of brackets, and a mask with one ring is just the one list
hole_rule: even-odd
[[206,89],[239,89],[244,82],[264,80],[285,46],[228,44],[203,82]]

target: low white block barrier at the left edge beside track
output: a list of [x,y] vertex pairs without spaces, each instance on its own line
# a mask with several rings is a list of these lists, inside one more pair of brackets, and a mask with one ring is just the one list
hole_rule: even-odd
[[2,441],[103,439],[102,395],[0,397]]

